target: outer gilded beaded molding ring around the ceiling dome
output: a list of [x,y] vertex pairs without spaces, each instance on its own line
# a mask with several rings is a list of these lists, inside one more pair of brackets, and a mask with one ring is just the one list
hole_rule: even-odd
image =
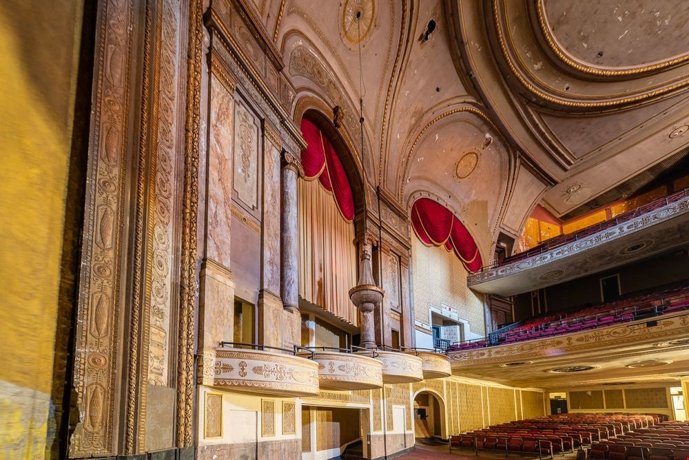
[[618,97],[618,98],[608,100],[608,101],[588,102],[588,101],[573,101],[573,100],[568,100],[568,99],[564,99],[564,98],[555,98],[555,97],[551,96],[550,94],[546,94],[545,92],[542,92],[537,87],[535,87],[530,82],[528,82],[524,78],[524,75],[522,75],[520,70],[517,69],[515,63],[511,59],[509,51],[507,50],[507,45],[505,42],[505,36],[504,36],[504,30],[502,28],[502,23],[500,21],[500,12],[498,11],[498,1],[499,0],[492,0],[493,21],[495,22],[495,30],[497,32],[497,41],[498,41],[498,43],[500,43],[500,50],[502,51],[502,55],[503,55],[507,65],[510,67],[512,74],[515,77],[517,77],[517,80],[520,81],[520,83],[526,88],[526,90],[528,90],[528,92],[531,92],[531,94],[534,94],[535,96],[541,98],[544,101],[548,101],[550,103],[554,103],[557,105],[562,105],[564,107],[577,107],[577,108],[616,107],[618,105],[626,105],[628,103],[645,101],[646,99],[654,98],[657,96],[662,96],[663,94],[668,94],[669,92],[679,90],[680,88],[685,87],[686,85],[689,85],[689,79],[688,79],[688,80],[682,81],[680,83],[675,83],[672,85],[668,85],[666,87],[659,88],[657,90],[650,90],[644,94],[637,94],[636,96],[628,96],[628,97]]

